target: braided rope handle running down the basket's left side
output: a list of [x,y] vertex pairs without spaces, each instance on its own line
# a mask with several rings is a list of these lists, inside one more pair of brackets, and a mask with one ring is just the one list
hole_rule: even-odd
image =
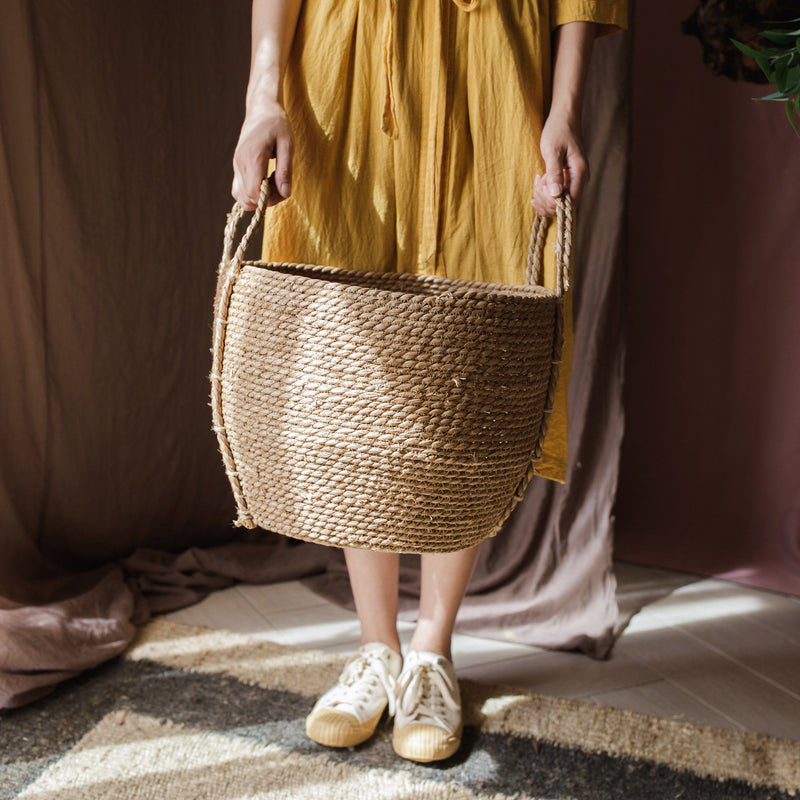
[[239,480],[239,473],[236,469],[236,462],[233,458],[228,433],[225,428],[225,420],[222,415],[222,355],[225,352],[225,333],[228,324],[228,309],[230,307],[233,286],[242,270],[244,254],[250,244],[250,239],[255,233],[261,221],[264,219],[264,209],[269,200],[269,183],[265,178],[261,183],[261,194],[258,198],[253,218],[247,226],[247,230],[242,237],[236,252],[233,250],[233,241],[236,229],[245,214],[244,207],[236,202],[233,209],[228,214],[225,224],[225,238],[222,247],[222,260],[219,265],[218,283],[220,285],[217,307],[214,310],[214,344],[212,347],[212,365],[209,379],[211,381],[211,414],[212,429],[217,434],[219,450],[222,454],[222,461],[225,465],[225,474],[233,490],[236,500],[237,519],[234,525],[244,528],[255,528],[256,523],[247,507],[247,501],[242,491],[242,484]]

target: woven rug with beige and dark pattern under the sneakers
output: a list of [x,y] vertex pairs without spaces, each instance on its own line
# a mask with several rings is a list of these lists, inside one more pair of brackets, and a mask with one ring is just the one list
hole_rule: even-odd
[[[0,798],[782,800],[800,744],[462,682],[460,751],[404,761],[306,739],[344,659],[157,620],[124,657],[0,718]],[[800,794],[800,792],[798,792]]]

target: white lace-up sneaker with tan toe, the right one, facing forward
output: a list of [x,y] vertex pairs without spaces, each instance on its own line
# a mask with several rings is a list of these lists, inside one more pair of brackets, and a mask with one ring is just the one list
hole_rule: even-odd
[[453,665],[438,653],[411,650],[397,679],[392,744],[411,761],[449,758],[461,744],[461,693]]

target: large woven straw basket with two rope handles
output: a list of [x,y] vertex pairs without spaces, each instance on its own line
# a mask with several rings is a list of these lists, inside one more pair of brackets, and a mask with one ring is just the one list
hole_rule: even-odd
[[228,215],[211,406],[235,525],[395,552],[492,536],[533,476],[563,341],[572,206],[557,288],[536,217],[525,286],[245,261]]

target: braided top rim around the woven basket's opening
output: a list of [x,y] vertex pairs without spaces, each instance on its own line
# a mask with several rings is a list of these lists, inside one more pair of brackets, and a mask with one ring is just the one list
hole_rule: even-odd
[[[280,268],[289,267],[297,271],[283,272]],[[267,270],[273,275],[285,275],[286,279],[299,280],[305,283],[322,283],[331,276],[353,278],[356,282],[342,282],[343,291],[379,293],[405,300],[416,300],[420,303],[436,304],[442,300],[489,300],[509,304],[527,304],[532,299],[561,301],[562,297],[552,289],[545,286],[530,284],[503,284],[487,283],[485,281],[471,281],[464,278],[448,278],[442,275],[431,275],[417,272],[369,272],[367,270],[345,269],[322,264],[307,264],[294,261],[262,261],[250,260],[242,262],[242,271],[246,269]],[[276,269],[272,269],[276,268]],[[380,285],[359,284],[365,273],[374,276],[386,276],[387,282],[399,284],[399,288],[384,287]],[[331,283],[327,281],[327,283]],[[408,286],[403,286],[408,284]],[[428,289],[438,289],[434,294],[422,291],[409,291],[415,285]]]

